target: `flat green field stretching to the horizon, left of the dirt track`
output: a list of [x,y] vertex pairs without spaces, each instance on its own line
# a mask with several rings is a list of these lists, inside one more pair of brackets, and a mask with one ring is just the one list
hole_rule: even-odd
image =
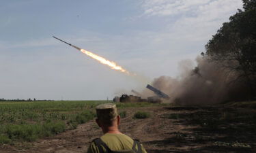
[[[30,101],[0,102],[0,143],[56,135],[76,129],[95,117],[95,107],[107,101]],[[117,103],[118,108],[145,107],[152,103]]]

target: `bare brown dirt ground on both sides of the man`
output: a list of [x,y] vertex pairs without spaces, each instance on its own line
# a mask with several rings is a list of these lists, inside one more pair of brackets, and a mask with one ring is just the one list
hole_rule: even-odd
[[[239,129],[228,132],[223,130],[216,131],[216,129],[209,131],[209,127],[203,128],[198,122],[186,120],[186,116],[195,115],[198,115],[203,120],[205,116],[220,114],[223,109],[225,107],[220,106],[126,108],[122,109],[122,111],[126,111],[126,117],[122,118],[119,128],[122,133],[133,139],[139,139],[149,153],[256,152],[255,129],[244,133]],[[145,119],[132,118],[134,112],[137,111],[150,112],[151,116]],[[170,114],[176,114],[178,117],[168,117]],[[230,125],[232,124],[230,123]],[[218,128],[227,129],[227,126],[220,124]],[[81,153],[87,151],[92,139],[101,135],[101,129],[98,128],[94,120],[91,120],[79,125],[77,129],[66,131],[53,137],[46,137],[29,143],[20,143],[15,146],[1,145],[0,152]]]

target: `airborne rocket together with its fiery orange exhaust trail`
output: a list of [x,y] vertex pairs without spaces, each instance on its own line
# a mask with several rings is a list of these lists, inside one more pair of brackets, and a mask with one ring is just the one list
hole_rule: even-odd
[[[54,36],[53,36],[54,37]],[[104,64],[104,65],[108,65],[109,67],[111,67],[111,69],[115,69],[117,71],[121,71],[123,73],[126,73],[128,75],[131,75],[131,73],[129,71],[127,71],[126,69],[122,68],[121,66],[117,65],[115,62],[113,61],[109,61],[106,58],[103,58],[101,56],[98,56],[97,54],[94,54],[92,52],[89,52],[87,50],[81,49],[79,47],[76,47],[72,44],[67,43],[66,41],[63,41],[57,37],[54,37],[55,39],[58,39],[59,41],[62,41],[63,43],[68,44],[69,46],[72,46],[73,48],[76,48],[77,50],[80,50],[81,52],[83,52],[83,54],[86,54],[87,56],[94,58],[95,60],[99,61],[100,63]]]

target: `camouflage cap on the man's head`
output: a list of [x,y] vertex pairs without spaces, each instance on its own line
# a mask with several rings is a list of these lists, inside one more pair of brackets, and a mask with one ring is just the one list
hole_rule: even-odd
[[114,120],[117,114],[117,107],[113,103],[104,103],[96,107],[96,113],[98,120],[108,122]]

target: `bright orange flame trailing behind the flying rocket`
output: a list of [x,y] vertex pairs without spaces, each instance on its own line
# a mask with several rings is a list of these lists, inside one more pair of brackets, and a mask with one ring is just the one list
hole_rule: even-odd
[[114,63],[113,61],[109,61],[101,56],[98,56],[92,52],[89,52],[87,50],[81,49],[81,52],[83,52],[84,54],[87,54],[88,56],[90,56],[91,58],[96,59],[97,61],[99,61],[100,63],[104,64],[104,65],[108,65],[109,67],[111,67],[111,69],[115,69],[117,71],[122,71],[124,73],[127,73],[128,75],[130,75],[130,72],[127,71],[126,69],[123,69],[122,67],[120,67],[119,65],[117,65],[116,63]]

